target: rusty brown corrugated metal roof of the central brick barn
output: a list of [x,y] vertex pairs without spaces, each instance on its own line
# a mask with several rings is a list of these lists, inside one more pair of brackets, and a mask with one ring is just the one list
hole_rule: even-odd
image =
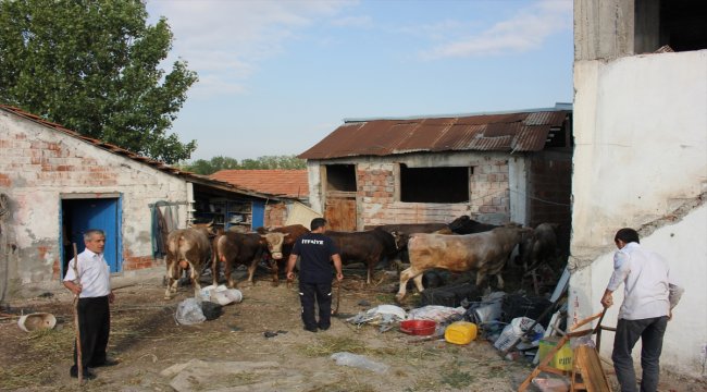
[[545,147],[550,127],[561,126],[570,112],[543,109],[347,122],[299,158],[332,159],[415,151],[539,151]]

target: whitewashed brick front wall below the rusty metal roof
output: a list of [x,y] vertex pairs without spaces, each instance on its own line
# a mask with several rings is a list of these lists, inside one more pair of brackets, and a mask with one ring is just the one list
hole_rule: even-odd
[[[491,223],[525,222],[525,203],[511,207],[511,195],[525,197],[526,175],[522,156],[500,152],[410,154],[392,157],[356,157],[308,161],[310,205],[321,212],[323,186],[321,166],[354,163],[357,170],[357,204],[362,230],[384,223],[450,222],[462,215]],[[458,204],[401,203],[397,168],[474,167],[470,179],[471,200]],[[517,176],[517,177],[516,177]],[[513,191],[511,193],[511,189]],[[520,196],[518,196],[520,195]]]

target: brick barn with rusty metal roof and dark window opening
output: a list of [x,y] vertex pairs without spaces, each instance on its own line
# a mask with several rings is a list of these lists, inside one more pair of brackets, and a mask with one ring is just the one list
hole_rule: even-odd
[[386,223],[562,224],[569,242],[570,105],[345,120],[307,159],[310,204],[335,230]]

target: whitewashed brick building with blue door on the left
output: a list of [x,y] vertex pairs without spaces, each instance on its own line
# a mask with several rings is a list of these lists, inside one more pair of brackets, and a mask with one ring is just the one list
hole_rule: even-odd
[[55,287],[88,228],[113,273],[163,266],[164,233],[251,230],[274,195],[184,172],[0,106],[0,302]]

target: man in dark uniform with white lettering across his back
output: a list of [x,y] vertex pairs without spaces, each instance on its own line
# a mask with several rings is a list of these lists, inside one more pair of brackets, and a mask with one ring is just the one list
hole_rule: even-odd
[[[311,232],[300,236],[293,247],[287,260],[287,280],[295,279],[297,256],[299,265],[299,299],[302,304],[305,329],[317,332],[325,331],[331,326],[332,317],[332,261],[336,268],[336,280],[344,279],[342,258],[332,238],[324,235],[326,220],[314,218],[310,224]],[[319,304],[319,322],[314,316],[314,302]]]

